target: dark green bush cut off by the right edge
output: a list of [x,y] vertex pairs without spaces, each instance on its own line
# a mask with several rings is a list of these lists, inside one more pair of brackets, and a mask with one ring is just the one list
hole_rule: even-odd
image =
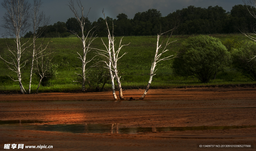
[[244,42],[243,45],[231,52],[233,67],[256,81],[256,46],[253,42]]

